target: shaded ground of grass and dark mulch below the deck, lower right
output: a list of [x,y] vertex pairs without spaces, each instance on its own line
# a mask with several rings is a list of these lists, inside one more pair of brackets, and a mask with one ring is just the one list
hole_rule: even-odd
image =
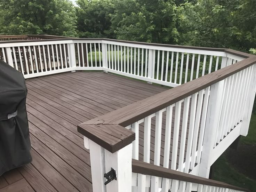
[[246,137],[241,136],[238,150],[228,149],[214,163],[213,179],[256,192],[255,155],[256,114],[253,114],[249,133]]

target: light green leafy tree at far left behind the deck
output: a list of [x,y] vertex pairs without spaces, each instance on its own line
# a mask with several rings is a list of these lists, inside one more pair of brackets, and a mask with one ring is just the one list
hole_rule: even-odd
[[69,0],[0,1],[1,34],[50,34],[76,37],[76,16]]

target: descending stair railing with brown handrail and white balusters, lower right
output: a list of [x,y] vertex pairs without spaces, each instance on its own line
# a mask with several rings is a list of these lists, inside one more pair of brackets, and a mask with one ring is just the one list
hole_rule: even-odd
[[[151,179],[158,177],[158,189],[151,192],[179,191],[179,192],[249,192],[247,189],[230,185],[224,182],[206,179],[187,173],[159,167],[143,161],[132,160],[133,186],[137,187],[137,192],[145,192],[146,188],[151,187]],[[145,177],[145,182],[141,182],[139,178]],[[169,185],[163,186],[163,180],[169,179]]]

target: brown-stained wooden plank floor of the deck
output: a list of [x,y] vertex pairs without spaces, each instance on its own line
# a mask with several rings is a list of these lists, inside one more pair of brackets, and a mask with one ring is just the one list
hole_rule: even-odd
[[103,72],[51,75],[26,85],[33,161],[1,176],[0,192],[92,191],[89,151],[77,125],[167,89]]

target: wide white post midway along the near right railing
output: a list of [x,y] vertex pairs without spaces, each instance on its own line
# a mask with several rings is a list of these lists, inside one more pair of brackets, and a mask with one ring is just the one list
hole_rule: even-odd
[[211,85],[210,97],[206,117],[205,135],[203,138],[202,156],[199,164],[199,176],[209,178],[211,155],[213,155],[221,113],[221,98],[224,80]]

